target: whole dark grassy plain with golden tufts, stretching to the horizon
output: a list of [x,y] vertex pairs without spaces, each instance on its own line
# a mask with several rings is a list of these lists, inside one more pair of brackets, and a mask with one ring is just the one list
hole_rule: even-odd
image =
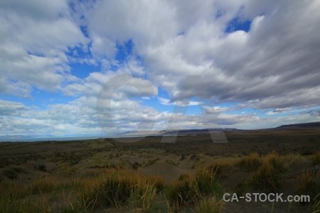
[[[0,143],[0,212],[320,211],[320,129],[225,134]],[[225,192],[311,202],[224,202]]]

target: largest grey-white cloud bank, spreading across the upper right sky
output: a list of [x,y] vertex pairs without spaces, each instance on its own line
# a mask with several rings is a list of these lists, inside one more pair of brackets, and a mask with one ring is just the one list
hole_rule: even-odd
[[[144,3],[109,4],[99,2],[89,12],[90,32],[113,43],[132,39],[136,53],[144,57],[149,79],[171,98],[178,98],[177,82],[183,75],[201,75],[205,82],[190,87],[190,97],[217,102],[270,102],[270,98],[287,97],[288,92],[302,96],[319,85],[316,1],[208,1],[205,6],[153,1],[147,10],[155,11],[151,19],[145,18]],[[193,21],[186,16],[190,8]],[[220,16],[215,17],[217,13]],[[250,31],[226,34],[228,22],[237,16],[252,20]],[[305,98],[282,107],[318,103]]]

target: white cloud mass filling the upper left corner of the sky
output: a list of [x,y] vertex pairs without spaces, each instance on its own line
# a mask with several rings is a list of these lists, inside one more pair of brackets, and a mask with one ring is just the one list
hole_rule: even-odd
[[76,80],[65,52],[89,40],[70,19],[67,1],[1,1],[0,13],[1,81],[16,87],[1,93],[30,97],[32,87],[57,91]]

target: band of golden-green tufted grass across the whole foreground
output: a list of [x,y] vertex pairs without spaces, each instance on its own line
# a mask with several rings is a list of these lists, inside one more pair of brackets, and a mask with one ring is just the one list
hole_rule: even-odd
[[[170,183],[159,175],[142,175],[139,170],[99,167],[80,175],[73,167],[63,165],[51,173],[41,173],[33,181],[8,178],[0,182],[0,212],[93,212],[119,207],[132,212],[181,212],[186,208],[194,212],[221,212],[224,202],[220,201],[223,189],[219,182],[233,171],[245,169],[251,173],[235,189],[237,193],[277,192],[282,174],[291,165],[297,160],[314,162],[316,156],[317,153],[312,158],[252,153],[240,159],[206,162],[208,165],[196,163],[192,172]],[[306,170],[297,176],[297,192],[311,195],[314,202],[310,208],[316,209],[314,212],[319,211],[320,205],[316,197],[319,180],[318,170]]]

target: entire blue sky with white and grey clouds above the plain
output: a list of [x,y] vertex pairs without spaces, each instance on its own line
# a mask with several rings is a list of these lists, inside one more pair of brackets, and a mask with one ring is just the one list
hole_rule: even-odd
[[320,121],[320,1],[0,1],[0,136]]

